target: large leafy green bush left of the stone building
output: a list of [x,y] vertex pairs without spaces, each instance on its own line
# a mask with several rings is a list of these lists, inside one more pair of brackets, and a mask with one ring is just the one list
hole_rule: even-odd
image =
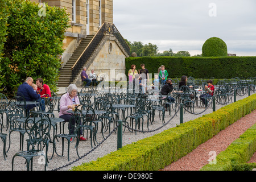
[[[15,92],[28,76],[42,77],[51,89],[61,66],[59,55],[63,53],[64,32],[69,27],[68,14],[64,9],[25,0],[7,1],[8,36],[1,59],[3,92]],[[45,14],[39,12],[45,8]]]

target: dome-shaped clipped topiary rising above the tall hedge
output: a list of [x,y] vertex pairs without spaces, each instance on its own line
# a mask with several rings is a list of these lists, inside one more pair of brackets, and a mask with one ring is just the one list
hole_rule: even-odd
[[202,56],[228,56],[228,48],[226,43],[220,38],[209,38],[202,47]]

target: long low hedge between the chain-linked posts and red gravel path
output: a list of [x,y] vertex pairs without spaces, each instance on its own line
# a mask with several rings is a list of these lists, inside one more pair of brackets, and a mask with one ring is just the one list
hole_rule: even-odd
[[201,143],[236,122],[256,107],[256,94],[185,122],[162,133],[127,144],[96,161],[72,170],[158,170],[187,155]]

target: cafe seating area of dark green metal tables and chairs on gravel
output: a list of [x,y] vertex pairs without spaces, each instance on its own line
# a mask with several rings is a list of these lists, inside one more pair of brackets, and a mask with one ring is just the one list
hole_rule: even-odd
[[[11,99],[0,94],[0,161],[10,161],[13,170],[20,168],[19,160],[23,160],[23,170],[34,170],[38,164],[43,164],[43,167],[36,167],[36,170],[45,170],[52,162],[56,163],[55,166],[60,160],[70,162],[69,155],[76,154],[80,158],[110,134],[116,135],[113,129],[118,121],[123,123],[123,134],[136,136],[154,129],[156,124],[164,125],[170,117],[179,114],[180,106],[187,114],[196,114],[199,109],[203,113],[213,107],[212,97],[207,98],[207,105],[199,98],[205,94],[207,80],[189,77],[187,85],[193,88],[184,86],[178,90],[179,79],[172,79],[174,91],[167,96],[159,92],[163,85],[159,90],[148,86],[145,94],[123,85],[122,88],[101,84],[85,87],[78,93],[80,105],[69,111],[73,114],[73,123],[65,123],[58,115],[64,93],[57,95],[52,92],[51,97],[44,98],[44,112],[38,102],[26,102],[20,94]],[[226,105],[234,102],[236,97],[255,93],[255,78],[219,80],[214,87],[214,102]],[[175,102],[170,102],[168,97],[175,98]],[[35,107],[27,110],[27,105]],[[70,134],[69,129],[75,133]],[[81,131],[88,139],[85,142],[79,141]]]

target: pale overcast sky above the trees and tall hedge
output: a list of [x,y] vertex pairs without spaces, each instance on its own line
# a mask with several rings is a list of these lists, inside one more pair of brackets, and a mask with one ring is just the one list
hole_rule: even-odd
[[114,24],[130,42],[201,54],[215,36],[228,53],[256,56],[255,0],[114,0]]

